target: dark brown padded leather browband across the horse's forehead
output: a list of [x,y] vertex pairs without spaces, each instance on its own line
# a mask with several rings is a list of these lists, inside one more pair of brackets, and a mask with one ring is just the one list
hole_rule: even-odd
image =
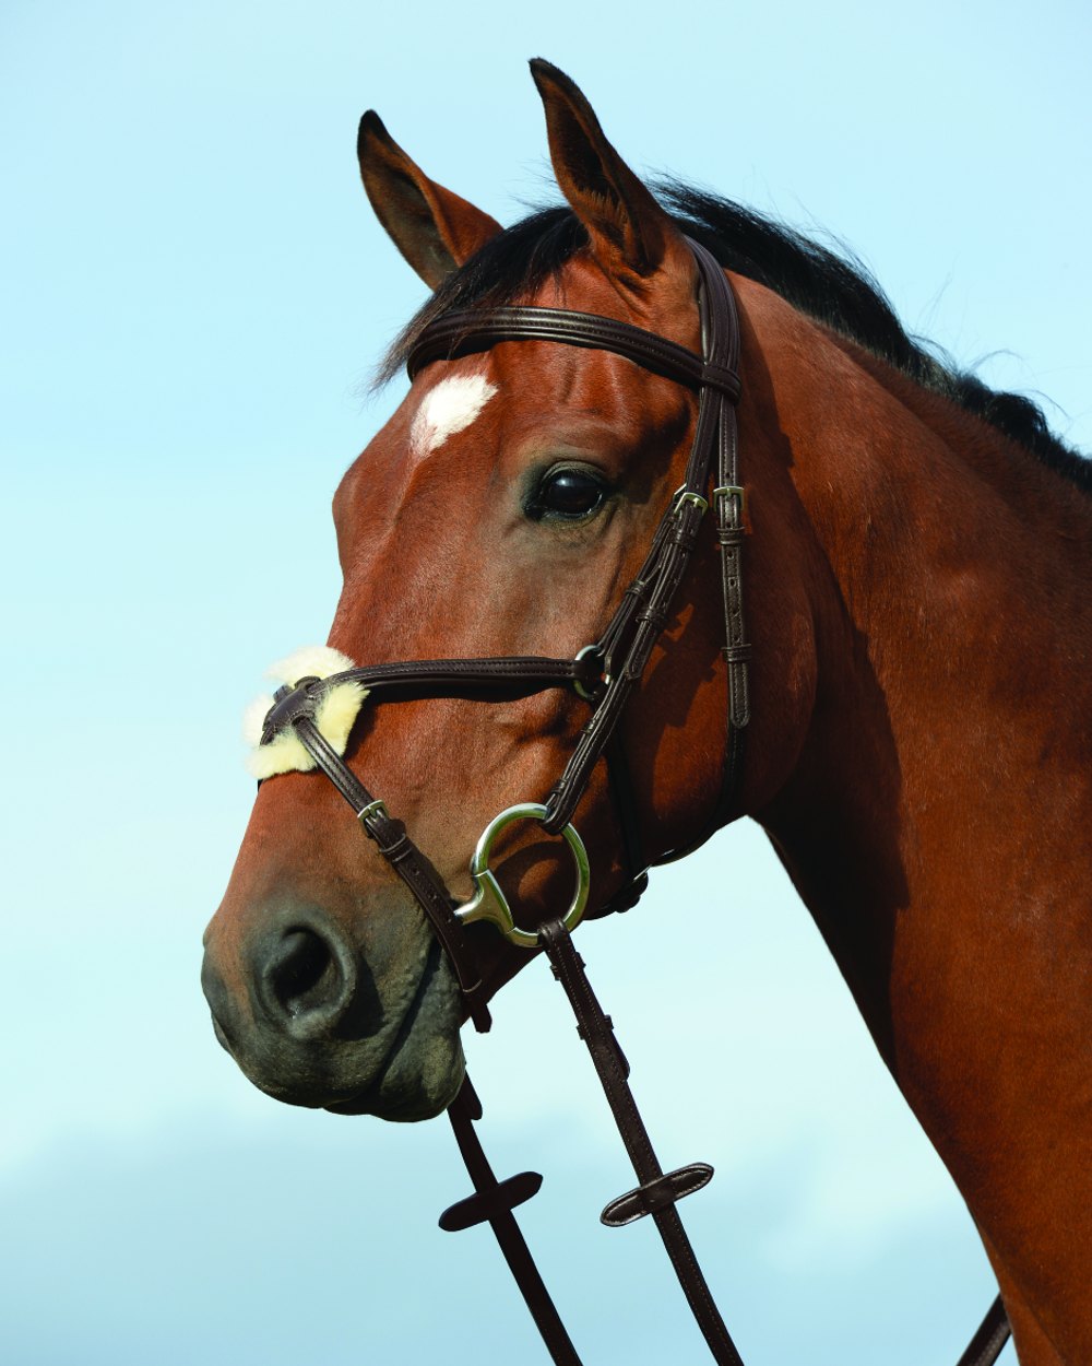
[[605,318],[599,313],[528,305],[446,313],[429,324],[411,350],[405,369],[412,380],[433,361],[455,361],[461,355],[489,351],[501,342],[562,342],[597,351],[616,351],[643,369],[691,389],[703,385],[719,389],[733,403],[740,396],[740,377],[734,370],[703,361],[695,351],[655,332]]

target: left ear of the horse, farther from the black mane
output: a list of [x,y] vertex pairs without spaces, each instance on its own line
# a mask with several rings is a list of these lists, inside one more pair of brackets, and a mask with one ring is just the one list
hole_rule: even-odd
[[430,180],[374,109],[360,119],[356,154],[375,217],[430,288],[501,231],[495,219]]

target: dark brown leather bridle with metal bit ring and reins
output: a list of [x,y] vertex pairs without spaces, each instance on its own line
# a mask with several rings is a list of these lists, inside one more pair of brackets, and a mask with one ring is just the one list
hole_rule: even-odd
[[[618,816],[628,882],[606,906],[592,910],[605,915],[633,906],[647,887],[648,862],[640,841],[636,802],[629,784],[625,754],[618,739],[618,723],[639,684],[652,649],[672,613],[672,607],[698,545],[704,514],[714,508],[721,548],[725,645],[728,672],[728,734],[722,791],[713,814],[713,833],[728,818],[738,783],[743,735],[751,716],[748,660],[743,615],[741,549],[747,529],[745,490],[738,478],[738,433],[736,403],[740,395],[740,325],[732,287],[715,258],[699,243],[688,240],[699,272],[698,307],[702,324],[702,355],[640,328],[561,309],[530,306],[449,313],[430,324],[414,347],[408,372],[412,380],[433,361],[455,359],[489,350],[501,342],[538,340],[565,346],[613,351],[643,369],[665,376],[699,393],[693,443],[682,485],[672,497],[652,535],[640,571],[598,642],[580,650],[575,660],[538,656],[501,656],[476,660],[412,660],[379,664],[304,678],[283,687],[274,698],[262,743],[270,743],[285,728],[293,731],[317,766],[349,802],[364,833],[403,878],[429,918],[446,952],[470,1018],[478,1030],[490,1027],[489,989],[483,982],[465,936],[465,925],[490,921],[505,937],[527,948],[541,948],[550,959],[554,977],[576,1015],[577,1033],[588,1048],[601,1085],[614,1115],[618,1132],[637,1176],[637,1186],[612,1201],[601,1220],[621,1227],[643,1216],[652,1217],[674,1266],[691,1311],[718,1366],[743,1366],[723,1320],[713,1300],[704,1276],[678,1217],[676,1203],[700,1190],[713,1177],[713,1168],[692,1162],[663,1172],[629,1089],[629,1064],[613,1031],[610,1016],[599,1005],[576,952],[571,930],[586,910],[588,861],[572,816],[591,779],[592,769],[606,758],[610,792]],[[710,492],[710,479],[715,482]],[[549,688],[571,688],[591,706],[591,716],[561,776],[545,803],[528,802],[501,811],[483,832],[471,862],[475,895],[463,906],[450,896],[442,878],[414,844],[401,821],[393,818],[382,799],[363,785],[334,747],[318,729],[315,712],[326,691],[344,682],[369,690],[369,701],[410,701],[419,698],[474,698],[508,701],[531,697]],[[534,930],[515,923],[506,897],[489,867],[497,835],[519,820],[535,820],[549,835],[566,841],[576,865],[577,887],[564,917]],[[693,847],[693,846],[692,846]],[[657,862],[681,856],[665,855]],[[474,1121],[482,1106],[465,1078],[448,1111],[460,1153],[474,1184],[474,1194],[445,1210],[440,1225],[450,1232],[489,1223],[512,1269],[543,1343],[557,1366],[580,1366],[580,1358],[561,1322],[554,1303],[534,1264],[512,1210],[535,1195],[542,1184],[536,1172],[521,1172],[498,1182],[482,1150]],[[994,1302],[957,1366],[992,1366],[1009,1339],[1009,1324],[1001,1298]]]

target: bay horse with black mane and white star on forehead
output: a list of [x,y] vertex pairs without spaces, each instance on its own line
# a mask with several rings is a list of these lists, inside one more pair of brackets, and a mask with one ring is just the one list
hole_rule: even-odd
[[[381,702],[397,661],[587,663],[684,489],[692,553],[650,626],[610,754],[573,798],[588,907],[617,904],[642,866],[756,820],[975,1218],[1020,1362],[1084,1366],[1089,464],[1029,400],[910,342],[839,255],[680,183],[651,190],[579,87],[545,61],[531,70],[564,204],[506,229],[431,180],[378,116],[360,123],[367,195],[434,292],[384,366],[416,355],[410,392],[334,496],[344,590],[329,643],[283,676],[367,661]],[[465,331],[475,313],[528,307],[700,357],[702,251],[738,310],[730,546],[700,518],[708,490],[688,486],[696,385],[547,336],[420,359],[446,318]],[[707,382],[726,392],[715,370]],[[745,553],[749,658],[723,642],[717,585],[732,546]],[[605,705],[601,667],[592,650],[571,686],[489,698],[455,686],[373,706],[345,699],[349,683],[330,691],[344,714],[322,729],[340,728],[343,766],[382,796],[360,811],[366,833],[397,811],[422,866],[476,904],[470,852],[497,833],[500,809],[530,800],[490,876],[535,945],[572,877],[553,837],[565,822],[543,824],[535,803]],[[274,749],[255,750],[255,772],[276,781],[259,785],[205,938],[217,1037],[281,1101],[433,1117],[463,1082],[461,1023],[532,953],[465,928],[475,1001],[334,787],[306,772],[306,754],[274,762]]]

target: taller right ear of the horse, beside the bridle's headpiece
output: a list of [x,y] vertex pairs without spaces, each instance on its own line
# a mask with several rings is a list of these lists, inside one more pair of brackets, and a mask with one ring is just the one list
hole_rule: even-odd
[[640,277],[681,247],[681,236],[651,191],[607,142],[595,111],[564,71],[531,61],[558,187],[591,235],[599,262]]

